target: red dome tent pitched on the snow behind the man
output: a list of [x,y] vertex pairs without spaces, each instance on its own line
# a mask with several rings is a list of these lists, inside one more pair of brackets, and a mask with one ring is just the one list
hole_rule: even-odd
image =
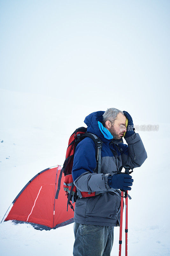
[[[14,199],[13,206],[4,221],[30,223],[39,230],[50,230],[74,222],[74,212],[67,212],[67,196],[60,189],[54,199],[61,167],[47,168],[35,175]],[[64,174],[61,184],[64,182]]]

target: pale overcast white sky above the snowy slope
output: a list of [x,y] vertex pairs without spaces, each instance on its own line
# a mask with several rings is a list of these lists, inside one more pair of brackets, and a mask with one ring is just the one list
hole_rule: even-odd
[[0,1],[0,22],[2,89],[169,123],[170,1]]

